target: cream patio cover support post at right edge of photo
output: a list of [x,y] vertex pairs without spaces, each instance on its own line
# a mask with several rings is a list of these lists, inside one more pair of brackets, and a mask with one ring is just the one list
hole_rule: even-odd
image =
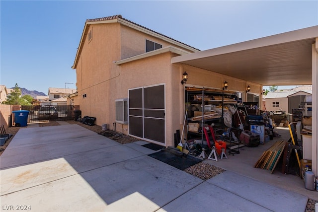
[[318,37],[316,38],[316,43],[313,44],[312,48],[312,86],[313,86],[313,94],[312,94],[312,170],[315,173],[315,176],[318,176]]

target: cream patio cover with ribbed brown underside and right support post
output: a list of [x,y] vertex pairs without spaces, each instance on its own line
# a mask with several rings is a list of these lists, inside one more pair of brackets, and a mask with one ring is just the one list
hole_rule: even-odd
[[[318,128],[318,26],[177,56],[181,63],[261,85],[313,85],[313,129]],[[318,132],[313,172],[318,175]]]

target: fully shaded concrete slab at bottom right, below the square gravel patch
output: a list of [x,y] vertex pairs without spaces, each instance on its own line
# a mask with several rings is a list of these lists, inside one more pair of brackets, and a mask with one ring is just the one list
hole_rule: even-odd
[[303,212],[308,198],[254,179],[226,171],[206,182],[275,212]]

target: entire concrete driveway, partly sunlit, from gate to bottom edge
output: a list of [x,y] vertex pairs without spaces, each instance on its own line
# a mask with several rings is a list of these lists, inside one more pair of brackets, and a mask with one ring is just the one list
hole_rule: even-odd
[[144,142],[122,145],[80,126],[18,134],[0,158],[4,210],[293,212],[307,203],[302,195],[231,171],[204,182],[146,155],[155,151]]

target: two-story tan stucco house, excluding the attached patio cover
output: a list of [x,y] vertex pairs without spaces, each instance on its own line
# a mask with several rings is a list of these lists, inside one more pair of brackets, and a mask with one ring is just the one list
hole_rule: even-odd
[[[186,86],[260,93],[262,86],[220,73],[183,64],[171,64],[180,55],[199,52],[120,15],[87,20],[73,69],[77,73],[82,116],[96,117],[97,125],[116,121],[116,100],[129,99],[127,122],[117,122],[119,132],[164,146],[174,145],[173,134],[185,114],[182,73]],[[190,85],[191,84],[191,85]]]

